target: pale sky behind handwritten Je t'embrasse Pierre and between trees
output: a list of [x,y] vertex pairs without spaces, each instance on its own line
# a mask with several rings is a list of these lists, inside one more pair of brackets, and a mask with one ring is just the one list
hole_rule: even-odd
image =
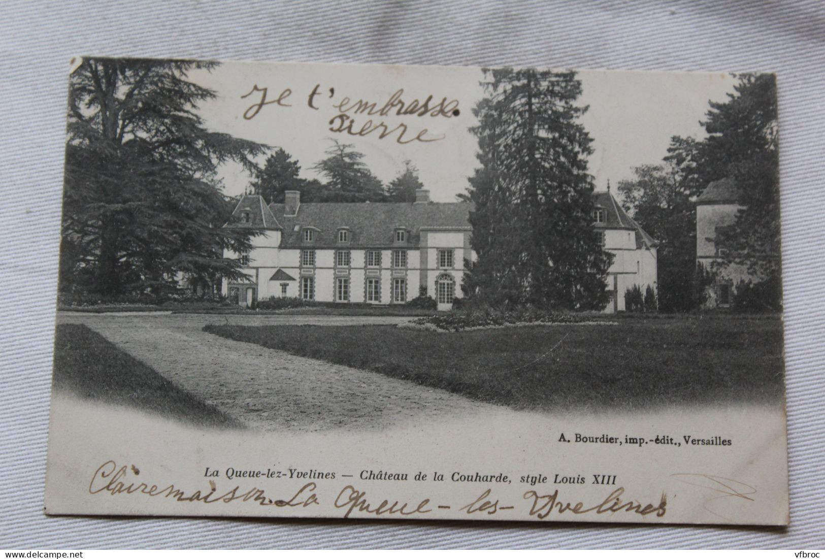
[[[593,139],[588,171],[595,176],[596,190],[605,190],[608,179],[615,184],[632,178],[634,167],[661,161],[672,136],[702,138],[705,130],[700,120],[705,118],[708,101],[725,101],[736,83],[726,73],[582,71],[577,77],[582,82],[580,103],[589,106],[581,122]],[[478,143],[469,128],[478,124],[472,109],[483,96],[480,68],[224,63],[191,78],[217,93],[216,99],[200,107],[207,127],[284,148],[299,161],[304,179],[323,181],[314,167],[325,157],[332,139],[352,143],[364,153],[363,161],[384,185],[410,160],[436,201],[455,200],[478,167]],[[318,110],[308,106],[316,84],[313,103]],[[247,120],[244,111],[262,100],[253,86],[267,88],[266,101],[275,101],[285,88],[291,92],[282,99],[283,106],[262,106]],[[405,139],[423,128],[429,137],[445,139],[402,145],[395,141],[397,134],[378,139],[377,132],[357,137],[329,130],[329,120],[338,114],[333,105],[343,97],[376,101],[380,106],[398,89],[403,89],[404,101],[423,101],[432,95],[434,102],[442,97],[459,102],[460,115],[451,118],[389,115],[383,119],[390,129],[408,124]],[[359,129],[370,117],[353,118]],[[220,174],[228,195],[243,193],[250,182],[247,171],[231,163],[221,167]]]

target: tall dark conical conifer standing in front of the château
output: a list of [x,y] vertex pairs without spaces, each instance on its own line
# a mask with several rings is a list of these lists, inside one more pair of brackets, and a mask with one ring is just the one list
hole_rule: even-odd
[[591,139],[575,73],[485,69],[470,179],[478,261],[464,290],[493,304],[596,309],[612,256],[592,227]]

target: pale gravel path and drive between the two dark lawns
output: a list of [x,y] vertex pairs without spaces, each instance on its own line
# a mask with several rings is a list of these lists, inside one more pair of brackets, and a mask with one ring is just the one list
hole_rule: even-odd
[[201,330],[206,324],[349,326],[406,320],[58,313],[58,323],[91,327],[178,386],[254,429],[384,429],[436,416],[465,417],[500,409],[436,388],[228,340]]

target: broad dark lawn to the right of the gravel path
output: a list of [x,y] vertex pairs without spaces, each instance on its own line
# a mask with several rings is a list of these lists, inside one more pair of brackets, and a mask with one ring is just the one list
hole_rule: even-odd
[[776,319],[676,317],[452,333],[395,326],[205,331],[517,408],[780,402],[784,392]]

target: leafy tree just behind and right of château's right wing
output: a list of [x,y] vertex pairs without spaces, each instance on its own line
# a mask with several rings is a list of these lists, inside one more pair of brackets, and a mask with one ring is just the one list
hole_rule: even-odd
[[635,178],[620,181],[622,205],[659,242],[658,307],[686,312],[693,297],[696,265],[696,213],[691,187],[674,162],[634,168]]

